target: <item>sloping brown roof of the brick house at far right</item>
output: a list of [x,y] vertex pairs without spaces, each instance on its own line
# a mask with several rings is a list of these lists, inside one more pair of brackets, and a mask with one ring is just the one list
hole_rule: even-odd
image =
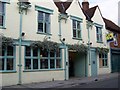
[[106,19],[103,17],[103,20],[105,22],[105,27],[106,29],[115,32],[115,33],[120,33],[120,27],[118,25],[116,25],[115,23],[113,23],[112,21]]

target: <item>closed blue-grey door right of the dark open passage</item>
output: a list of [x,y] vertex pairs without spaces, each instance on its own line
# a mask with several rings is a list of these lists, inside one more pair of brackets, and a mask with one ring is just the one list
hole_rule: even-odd
[[91,49],[91,76],[97,76],[97,54],[95,49]]

